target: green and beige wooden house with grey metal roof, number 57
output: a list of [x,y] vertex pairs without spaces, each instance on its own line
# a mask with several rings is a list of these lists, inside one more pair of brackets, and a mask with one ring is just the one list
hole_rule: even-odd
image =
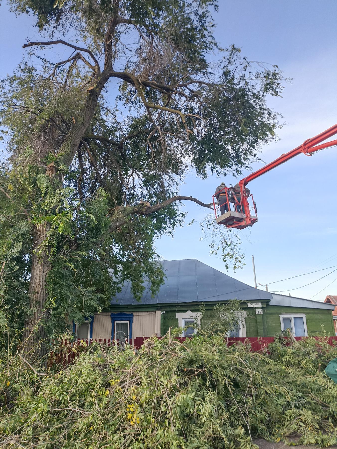
[[329,335],[335,335],[332,304],[276,295],[258,290],[196,259],[165,260],[162,264],[165,284],[152,297],[149,282],[137,302],[127,282],[112,300],[109,310],[96,313],[76,331],[81,339],[135,339],[161,336],[170,327],[188,327],[200,320],[200,304],[205,305],[204,319],[215,304],[230,299],[240,301],[240,323],[231,336],[274,336],[290,328],[295,336],[315,335],[321,324]]

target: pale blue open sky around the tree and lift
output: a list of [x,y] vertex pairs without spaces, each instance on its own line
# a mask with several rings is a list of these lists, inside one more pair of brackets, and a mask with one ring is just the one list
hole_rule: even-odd
[[[265,162],[337,122],[335,0],[220,0],[219,6],[214,21],[221,46],[235,44],[249,60],[277,64],[284,76],[292,78],[282,98],[269,99],[269,105],[283,115],[285,125],[279,131],[280,141],[263,148],[260,156]],[[0,30],[0,76],[4,76],[22,59],[25,38],[33,39],[37,32],[29,18],[9,13],[6,3],[0,6]],[[258,167],[254,165],[254,169]],[[336,167],[337,148],[332,148],[310,158],[299,155],[252,181],[249,189],[258,206],[259,221],[238,231],[246,265],[236,273],[230,269],[228,274],[254,285],[254,254],[261,284],[324,269],[272,284],[270,291],[320,301],[327,294],[337,294],[337,271],[331,273],[337,266],[326,269],[337,265]],[[230,176],[201,180],[191,172],[181,194],[210,202],[222,180],[227,185],[236,183]],[[168,260],[196,258],[226,272],[221,258],[210,256],[207,242],[200,242],[198,223],[208,211],[194,203],[186,204],[184,210],[188,211],[186,224],[193,218],[195,223],[176,229],[173,240],[159,239],[158,254]]]

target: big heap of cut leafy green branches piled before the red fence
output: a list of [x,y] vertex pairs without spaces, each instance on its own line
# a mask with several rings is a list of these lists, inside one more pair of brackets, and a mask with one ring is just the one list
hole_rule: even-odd
[[55,371],[4,359],[0,444],[253,448],[260,437],[336,445],[337,385],[323,371],[336,347],[308,338],[269,350],[228,348],[215,335],[184,343],[166,336],[139,351],[92,345]]

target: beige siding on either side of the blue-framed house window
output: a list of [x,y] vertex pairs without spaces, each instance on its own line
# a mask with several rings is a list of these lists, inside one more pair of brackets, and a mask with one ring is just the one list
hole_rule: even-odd
[[[160,336],[160,310],[153,312],[129,312],[133,313],[132,338]],[[111,314],[95,313],[92,325],[92,338],[111,339]]]

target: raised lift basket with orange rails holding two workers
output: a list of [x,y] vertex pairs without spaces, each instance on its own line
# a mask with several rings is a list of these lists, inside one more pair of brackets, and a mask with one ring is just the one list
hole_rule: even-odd
[[213,207],[218,225],[245,229],[258,221],[256,204],[252,194],[224,187],[219,191],[219,202],[213,195]]

